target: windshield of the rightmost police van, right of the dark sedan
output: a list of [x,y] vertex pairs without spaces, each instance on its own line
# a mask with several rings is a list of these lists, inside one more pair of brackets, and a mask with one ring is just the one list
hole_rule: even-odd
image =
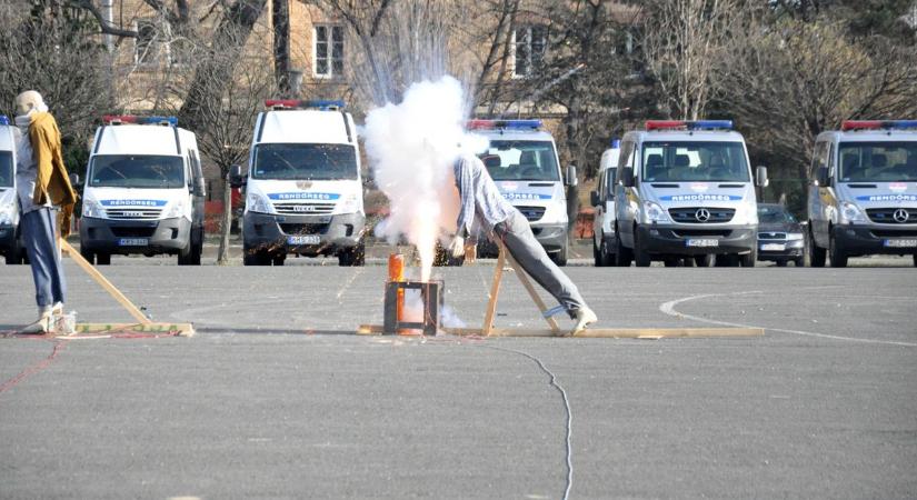
[[915,180],[917,141],[840,143],[840,182]]

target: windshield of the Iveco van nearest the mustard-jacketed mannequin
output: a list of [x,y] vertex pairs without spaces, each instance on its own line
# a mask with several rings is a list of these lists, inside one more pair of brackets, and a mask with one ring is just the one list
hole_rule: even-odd
[[99,154],[92,158],[89,186],[93,188],[177,189],[185,187],[181,157],[158,154]]

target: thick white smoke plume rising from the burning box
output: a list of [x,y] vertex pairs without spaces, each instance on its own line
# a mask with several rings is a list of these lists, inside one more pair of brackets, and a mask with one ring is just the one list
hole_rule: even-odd
[[366,152],[391,209],[376,232],[390,243],[403,236],[417,247],[422,281],[430,279],[437,239],[456,230],[452,164],[461,152],[487,147],[487,139],[465,132],[467,109],[461,83],[442,77],[413,83],[400,103],[366,118]]

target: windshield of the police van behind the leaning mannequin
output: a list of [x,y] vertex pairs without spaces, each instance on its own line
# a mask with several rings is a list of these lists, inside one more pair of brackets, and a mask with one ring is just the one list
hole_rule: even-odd
[[560,180],[551,141],[490,141],[480,159],[496,181]]

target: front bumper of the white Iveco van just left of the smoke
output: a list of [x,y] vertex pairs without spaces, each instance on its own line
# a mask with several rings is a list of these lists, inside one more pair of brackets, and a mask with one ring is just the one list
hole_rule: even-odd
[[[330,256],[357,247],[362,239],[366,216],[273,216],[247,212],[242,218],[245,249],[301,256]],[[297,243],[290,237],[318,237],[317,243]]]

